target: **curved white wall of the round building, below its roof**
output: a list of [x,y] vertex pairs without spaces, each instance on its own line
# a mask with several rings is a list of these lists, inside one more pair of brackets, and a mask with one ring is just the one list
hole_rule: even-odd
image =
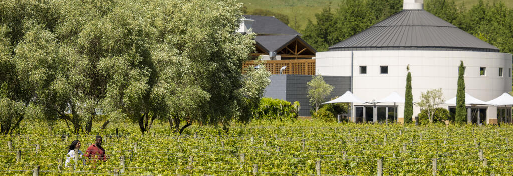
[[[351,52],[318,52],[315,71],[322,76],[351,76]],[[511,92],[512,56],[505,53],[461,51],[353,51],[353,94],[364,101],[379,100],[392,92],[404,97],[406,66],[410,65],[413,102],[421,92],[442,88],[446,100],[456,97],[460,60],[466,67],[466,93],[489,101]],[[360,74],[360,66],[367,67],[367,74]],[[380,74],[380,66],[388,66],[388,74]],[[480,68],[486,76],[480,76]],[[503,68],[503,77],[499,77]],[[445,106],[447,107],[447,106]],[[399,105],[398,117],[403,118],[404,105]],[[488,118],[497,118],[488,111]],[[420,109],[413,107],[413,116]]]

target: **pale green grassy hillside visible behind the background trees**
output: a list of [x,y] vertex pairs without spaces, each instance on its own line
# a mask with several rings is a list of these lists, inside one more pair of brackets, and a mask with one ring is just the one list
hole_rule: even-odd
[[[289,26],[295,30],[302,31],[308,20],[315,23],[315,14],[320,13],[323,8],[331,7],[338,9],[340,0],[238,0],[248,8],[248,11],[254,9],[265,9],[272,12],[282,13],[289,17]],[[469,9],[477,4],[479,0],[458,0],[456,4],[465,5]],[[507,7],[513,8],[512,0],[484,0],[485,2],[504,2]]]

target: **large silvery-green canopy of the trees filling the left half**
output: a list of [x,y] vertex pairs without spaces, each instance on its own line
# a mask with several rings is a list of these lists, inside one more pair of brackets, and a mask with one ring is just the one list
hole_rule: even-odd
[[[234,32],[240,8],[234,0],[2,1],[2,103],[34,106],[75,133],[103,115],[142,133],[156,119],[176,132],[244,119],[239,110],[263,91],[242,75],[254,36]],[[241,93],[248,89],[260,96]]]

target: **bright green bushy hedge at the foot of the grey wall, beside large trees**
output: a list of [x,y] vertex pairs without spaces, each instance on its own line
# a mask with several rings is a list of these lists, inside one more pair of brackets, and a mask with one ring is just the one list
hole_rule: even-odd
[[298,118],[299,102],[293,104],[288,101],[272,98],[262,98],[259,108],[253,113],[255,119],[262,120],[295,120]]

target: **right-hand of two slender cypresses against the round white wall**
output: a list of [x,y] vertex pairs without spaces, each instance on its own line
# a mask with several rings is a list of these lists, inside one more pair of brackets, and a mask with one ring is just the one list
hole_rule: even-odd
[[460,63],[460,69],[458,73],[458,91],[456,92],[456,122],[465,123],[467,119],[467,109],[465,106],[465,79],[463,75],[465,70],[463,67],[463,61]]

